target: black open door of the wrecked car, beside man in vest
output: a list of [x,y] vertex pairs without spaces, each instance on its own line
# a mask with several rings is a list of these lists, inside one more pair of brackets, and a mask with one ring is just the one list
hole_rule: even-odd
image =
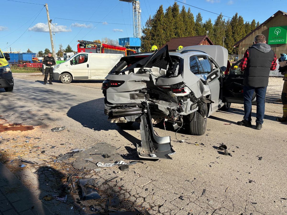
[[[242,60],[242,59],[241,59]],[[223,82],[223,100],[224,102],[243,104],[243,77],[244,71],[241,71],[239,64],[241,60],[232,64],[229,73],[225,75]],[[256,105],[256,93],[253,93],[252,104]]]

